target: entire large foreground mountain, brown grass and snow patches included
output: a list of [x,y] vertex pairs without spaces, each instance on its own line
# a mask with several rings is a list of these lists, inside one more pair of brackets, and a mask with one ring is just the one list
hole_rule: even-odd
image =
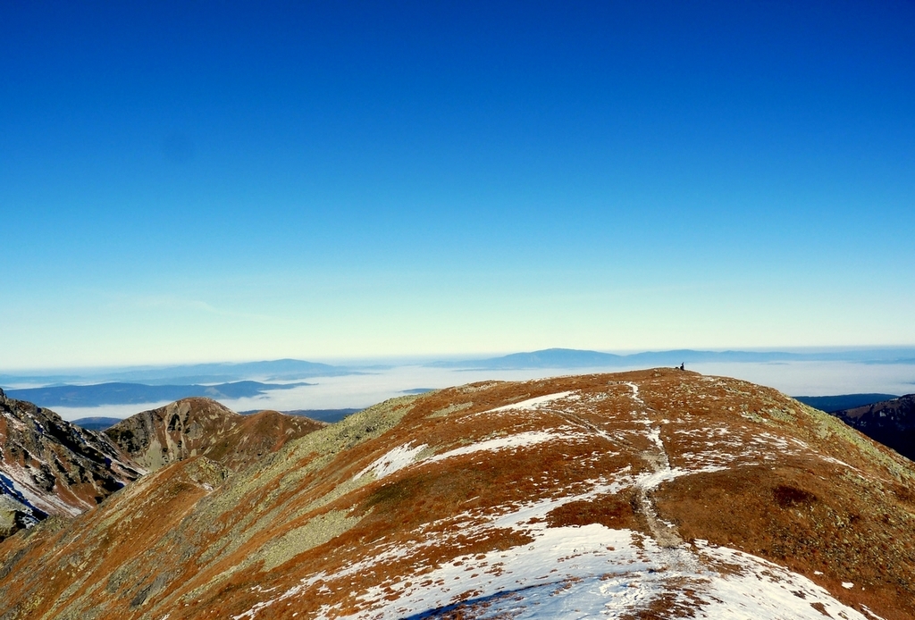
[[478,383],[199,454],[0,543],[0,618],[915,617],[912,464],[735,379]]

